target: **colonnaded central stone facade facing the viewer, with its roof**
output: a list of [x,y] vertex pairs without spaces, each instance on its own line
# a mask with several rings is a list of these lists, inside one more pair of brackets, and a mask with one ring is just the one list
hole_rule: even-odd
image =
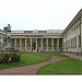
[[62,30],[12,31],[12,46],[23,51],[62,50]]

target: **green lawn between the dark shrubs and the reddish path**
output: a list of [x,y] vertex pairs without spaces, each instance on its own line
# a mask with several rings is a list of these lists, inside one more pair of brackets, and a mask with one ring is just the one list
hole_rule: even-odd
[[24,66],[28,66],[28,65],[43,62],[43,61],[46,61],[49,59],[50,59],[49,57],[46,57],[46,56],[39,55],[39,54],[35,54],[35,52],[22,52],[21,60],[19,62],[2,63],[2,65],[0,65],[0,70],[8,69],[8,68],[24,67]]

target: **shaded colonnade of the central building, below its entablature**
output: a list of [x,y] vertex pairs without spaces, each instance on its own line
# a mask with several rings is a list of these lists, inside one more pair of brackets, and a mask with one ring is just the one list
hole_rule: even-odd
[[62,42],[60,39],[61,38],[12,38],[12,46],[15,49],[25,51],[59,51],[62,48]]

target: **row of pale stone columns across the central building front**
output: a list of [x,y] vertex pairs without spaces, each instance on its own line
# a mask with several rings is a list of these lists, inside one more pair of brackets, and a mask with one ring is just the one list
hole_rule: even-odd
[[[14,40],[14,47],[16,48],[16,38],[14,38],[15,40]],[[31,43],[30,43],[30,45],[31,45],[31,49],[32,49],[32,38],[30,38],[31,39]],[[26,42],[26,38],[25,38],[25,50],[27,50],[27,42]],[[43,43],[43,38],[40,38],[40,50],[43,50],[44,49],[44,43]],[[20,38],[20,50],[21,50],[21,47],[22,47],[22,38]],[[38,49],[38,47],[37,47],[37,38],[36,38],[36,50]],[[48,38],[46,38],[46,50],[48,51]],[[51,50],[54,50],[54,38],[51,38]],[[59,38],[57,38],[57,51],[59,51]]]

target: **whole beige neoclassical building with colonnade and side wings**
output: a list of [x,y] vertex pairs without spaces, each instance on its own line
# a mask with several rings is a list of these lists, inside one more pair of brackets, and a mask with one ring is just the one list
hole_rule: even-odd
[[[0,45],[4,32],[0,31]],[[65,30],[12,31],[12,46],[22,51],[82,51],[82,9]],[[0,46],[1,47],[1,46]]]

